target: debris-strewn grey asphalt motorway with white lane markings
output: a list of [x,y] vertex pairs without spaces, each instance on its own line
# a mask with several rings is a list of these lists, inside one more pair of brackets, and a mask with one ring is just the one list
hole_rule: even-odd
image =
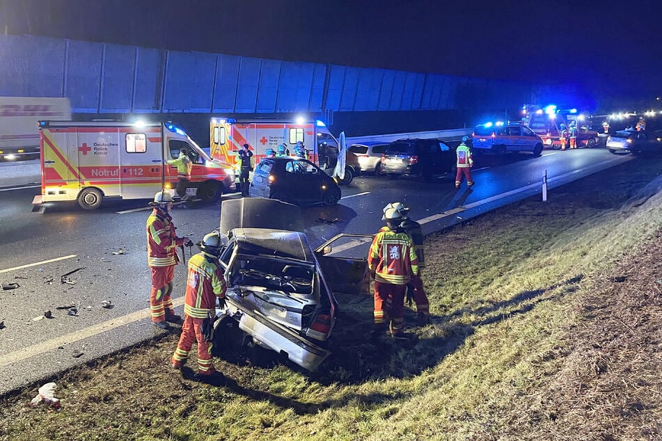
[[[342,187],[336,207],[303,209],[306,234],[313,246],[341,232],[373,234],[383,225],[382,207],[395,201],[411,207],[411,217],[427,234],[541,193],[545,174],[548,198],[553,198],[556,186],[631,159],[601,148],[551,150],[539,158],[477,157],[475,186],[467,189],[463,184],[457,191],[454,177],[422,182],[362,175]],[[148,201],[111,202],[97,211],[61,204],[32,212],[33,196],[40,189],[12,189],[6,180],[34,182],[25,177],[29,164],[18,173],[24,177],[6,167],[0,164],[0,282],[19,287],[0,290],[0,321],[5,326],[0,329],[0,394],[164,332],[151,326],[149,318]],[[173,218],[180,236],[198,241],[219,227],[219,204],[173,209]],[[324,222],[336,218],[336,223]],[[177,266],[175,309],[180,314],[185,274],[185,266]],[[114,307],[103,308],[103,300],[111,300]],[[71,305],[78,307],[77,315],[68,315],[66,307]],[[39,319],[46,310],[52,318]],[[82,355],[74,358],[74,351]]]

